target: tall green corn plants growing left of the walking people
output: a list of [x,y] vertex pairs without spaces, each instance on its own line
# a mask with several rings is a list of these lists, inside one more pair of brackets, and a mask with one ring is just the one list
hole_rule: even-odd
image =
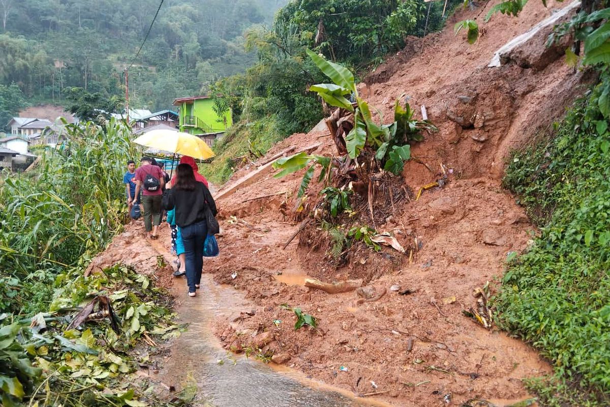
[[121,228],[124,168],[137,154],[131,131],[115,120],[66,129],[34,175],[2,174],[0,277],[74,265]]

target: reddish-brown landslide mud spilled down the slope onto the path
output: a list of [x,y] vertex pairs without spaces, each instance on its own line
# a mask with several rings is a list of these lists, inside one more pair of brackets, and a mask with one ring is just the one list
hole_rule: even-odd
[[[473,290],[486,281],[497,289],[506,256],[526,250],[535,230],[500,185],[511,149],[529,143],[561,117],[590,78],[567,67],[561,52],[544,48],[548,29],[502,67],[487,68],[504,43],[565,6],[552,0],[548,8],[528,2],[518,18],[495,15],[481,24],[484,34],[472,46],[465,34],[454,35],[454,23],[482,20],[496,3],[459,11],[442,32],[426,37],[423,52],[422,40],[417,40],[371,74],[368,84],[359,85],[361,96],[380,109],[386,123],[395,98],[408,96],[412,108],[418,112],[425,105],[440,128],[412,147],[415,160],[406,163],[403,177],[415,192],[444,171],[447,185],[426,190],[376,222],[378,231],[415,249],[411,256],[408,250],[374,253],[363,248],[337,267],[315,245],[315,228],[284,250],[299,225],[291,210],[302,173],[275,179],[270,172],[217,201],[221,254],[206,259],[204,272],[215,284],[238,290],[223,295],[243,298],[229,302],[230,312],[219,312],[210,321],[226,350],[273,355],[282,369],[354,395],[374,394],[396,406],[443,406],[447,400],[461,405],[470,398],[508,405],[529,397],[523,378],[551,372],[520,340],[496,328],[486,330],[462,311],[475,306]],[[260,164],[237,171],[224,191],[274,154],[316,143],[321,145],[315,154],[334,152],[325,126],[316,126],[278,143]],[[123,261],[146,272],[157,261],[154,249],[146,247],[126,253],[121,244],[111,245],[92,267]],[[328,283],[362,278],[376,292],[387,292],[362,302],[356,292],[331,295],[307,289],[302,286],[306,276]],[[171,283],[167,277],[163,281]],[[408,294],[400,295],[392,286]],[[295,314],[282,304],[314,315],[318,328],[295,331]]]

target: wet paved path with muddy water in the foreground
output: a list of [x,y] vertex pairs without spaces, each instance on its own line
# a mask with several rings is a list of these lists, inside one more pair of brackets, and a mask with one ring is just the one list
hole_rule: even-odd
[[[278,276],[280,277],[280,276]],[[214,407],[347,407],[389,406],[369,399],[356,399],[348,391],[307,379],[284,366],[265,365],[254,359],[229,354],[210,330],[214,317],[229,315],[247,306],[247,301],[230,287],[218,286],[203,275],[195,298],[187,297],[184,279],[174,284],[181,304],[178,314],[188,330],[174,342],[171,357],[159,379],[177,387],[197,382],[194,405]],[[223,364],[218,364],[221,359]]]

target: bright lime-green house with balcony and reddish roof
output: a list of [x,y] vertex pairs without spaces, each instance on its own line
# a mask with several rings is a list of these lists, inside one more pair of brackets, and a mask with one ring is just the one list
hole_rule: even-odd
[[180,131],[199,135],[209,144],[233,124],[231,111],[226,112],[224,117],[218,116],[210,96],[178,98],[174,100],[174,106],[178,106]]

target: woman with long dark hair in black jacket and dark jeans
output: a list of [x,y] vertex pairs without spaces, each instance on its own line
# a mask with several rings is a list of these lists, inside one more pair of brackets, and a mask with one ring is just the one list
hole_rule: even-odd
[[163,200],[168,211],[176,208],[176,225],[180,228],[184,243],[188,295],[195,297],[201,283],[203,270],[203,243],[207,236],[206,210],[217,214],[216,204],[203,182],[195,180],[193,168],[188,164],[178,165],[176,185],[171,186]]

